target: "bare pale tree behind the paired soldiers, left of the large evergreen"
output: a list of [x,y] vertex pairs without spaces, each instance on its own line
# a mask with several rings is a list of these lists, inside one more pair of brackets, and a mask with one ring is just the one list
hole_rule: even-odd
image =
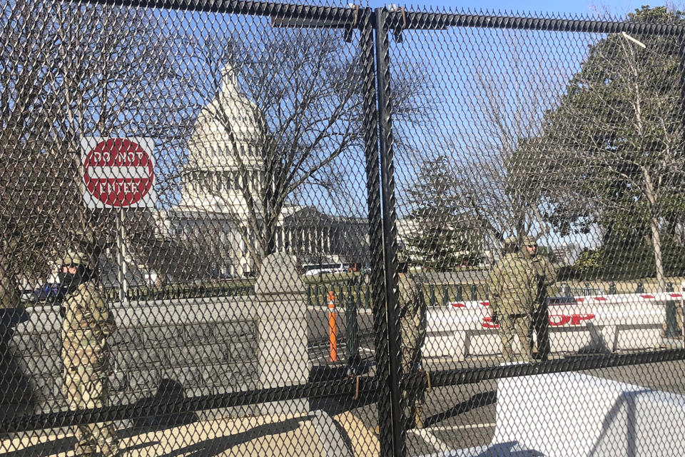
[[530,61],[526,36],[512,34],[504,43],[504,61],[484,56],[472,69],[460,99],[467,121],[443,140],[452,151],[450,171],[454,206],[469,214],[472,223],[494,246],[507,235],[542,237],[550,226],[544,220],[539,189],[526,176],[534,174],[533,156],[521,156],[519,141],[536,134],[542,113],[558,99],[554,78],[558,71],[545,57]]

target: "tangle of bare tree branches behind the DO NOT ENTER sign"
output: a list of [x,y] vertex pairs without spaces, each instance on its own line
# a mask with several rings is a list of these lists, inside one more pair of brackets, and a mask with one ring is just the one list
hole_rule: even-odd
[[183,144],[194,107],[173,56],[185,43],[145,9],[11,0],[0,20],[0,230],[15,268],[44,274],[73,244],[113,245],[114,212],[81,201],[83,136],[152,136],[161,154]]

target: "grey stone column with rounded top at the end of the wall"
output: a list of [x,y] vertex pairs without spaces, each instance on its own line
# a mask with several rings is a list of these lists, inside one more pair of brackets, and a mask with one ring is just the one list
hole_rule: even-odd
[[[295,256],[273,253],[264,258],[255,283],[262,388],[287,388],[308,381],[305,290]],[[307,398],[263,403],[260,407],[268,415],[309,413]]]

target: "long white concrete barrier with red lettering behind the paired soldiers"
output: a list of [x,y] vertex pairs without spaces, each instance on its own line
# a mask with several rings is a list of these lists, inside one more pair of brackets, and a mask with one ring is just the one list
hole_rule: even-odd
[[[658,348],[666,321],[664,302],[681,298],[674,292],[553,298],[549,303],[552,353]],[[497,327],[487,301],[429,308],[423,356],[464,360],[496,355],[501,353]],[[518,350],[517,338],[514,346]]]

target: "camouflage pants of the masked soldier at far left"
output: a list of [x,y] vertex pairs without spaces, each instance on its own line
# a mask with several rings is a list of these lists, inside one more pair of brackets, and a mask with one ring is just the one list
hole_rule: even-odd
[[[64,394],[71,411],[101,408],[108,404],[107,376],[92,365],[66,368]],[[103,457],[119,456],[119,441],[111,422],[88,423],[76,426],[76,456],[91,456],[99,447]]]

